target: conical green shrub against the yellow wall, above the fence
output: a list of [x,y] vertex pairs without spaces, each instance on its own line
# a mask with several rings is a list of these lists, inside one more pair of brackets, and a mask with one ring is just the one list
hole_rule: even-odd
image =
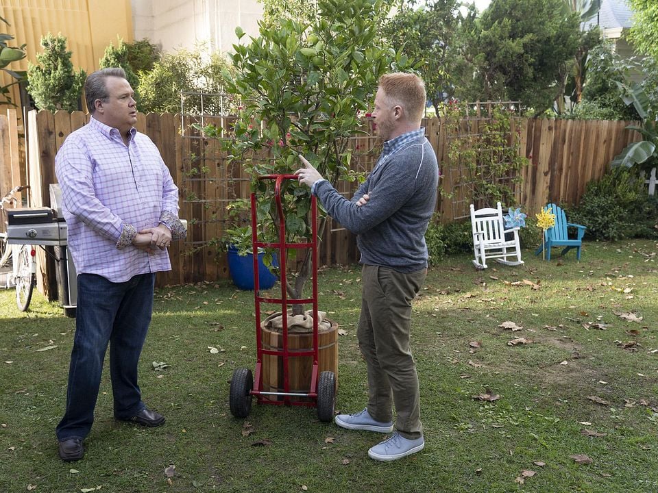
[[27,92],[36,107],[51,112],[79,110],[86,73],[73,71],[66,36],[49,33],[41,38],[41,47],[38,64],[27,64]]

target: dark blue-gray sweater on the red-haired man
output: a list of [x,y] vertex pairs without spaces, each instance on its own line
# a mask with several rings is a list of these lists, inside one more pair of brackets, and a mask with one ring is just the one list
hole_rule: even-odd
[[[315,194],[332,218],[357,235],[361,264],[404,273],[427,267],[425,231],[437,203],[439,166],[424,137],[380,159],[351,201],[328,181]],[[364,205],[356,205],[369,194]]]

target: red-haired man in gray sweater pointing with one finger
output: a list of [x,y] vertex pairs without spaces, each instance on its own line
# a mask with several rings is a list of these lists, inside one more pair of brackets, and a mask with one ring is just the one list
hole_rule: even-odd
[[351,201],[300,156],[300,183],[311,188],[343,227],[357,235],[363,291],[358,344],[367,362],[369,398],[363,411],[336,416],[340,427],[395,433],[368,451],[380,461],[425,446],[418,377],[409,348],[411,301],[427,275],[425,231],[437,202],[439,167],[420,126],[426,93],[419,77],[384,75],[372,113],[382,155]]

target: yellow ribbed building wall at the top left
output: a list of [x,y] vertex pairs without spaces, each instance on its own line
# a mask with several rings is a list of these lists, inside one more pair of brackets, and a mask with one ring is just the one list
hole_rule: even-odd
[[[36,63],[40,40],[48,34],[62,34],[68,39],[75,70],[95,71],[100,58],[117,36],[133,41],[130,0],[0,0],[0,16],[10,25],[0,23],[0,32],[14,36],[12,46],[27,43],[27,58],[8,68],[27,70],[27,61]],[[2,84],[10,77],[2,73]],[[18,93],[14,91],[14,103]]]

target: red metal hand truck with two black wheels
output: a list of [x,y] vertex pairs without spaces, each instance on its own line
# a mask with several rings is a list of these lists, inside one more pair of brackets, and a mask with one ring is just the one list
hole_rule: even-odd
[[[320,421],[328,422],[334,418],[334,407],[336,403],[336,376],[332,371],[319,372],[318,375],[318,325],[317,325],[317,201],[311,196],[311,223],[312,233],[309,242],[287,243],[285,218],[281,201],[281,184],[284,180],[297,180],[297,175],[263,175],[258,179],[274,180],[274,196],[279,220],[279,241],[267,243],[258,241],[258,220],[256,218],[256,194],[251,194],[252,201],[252,247],[254,249],[254,301],[256,304],[256,379],[249,368],[236,368],[233,372],[230,387],[230,409],[236,418],[246,418],[252,409],[252,397],[256,396],[259,404],[274,405],[302,405],[317,407],[317,416]],[[266,298],[260,295],[258,286],[258,252],[259,248],[278,249],[280,255],[280,298]],[[310,249],[313,262],[313,296],[306,299],[289,299],[286,284],[286,253],[287,249]],[[265,349],[260,330],[260,303],[275,303],[281,305],[282,317],[282,344],[280,348]],[[288,342],[288,313],[289,304],[312,304],[313,305],[313,348],[307,350],[289,349]],[[269,392],[263,390],[263,356],[272,355],[280,358],[283,366],[283,389],[282,392]],[[311,372],[308,392],[290,389],[289,358],[291,357],[313,357],[313,371]],[[276,399],[272,399],[276,396]]]

